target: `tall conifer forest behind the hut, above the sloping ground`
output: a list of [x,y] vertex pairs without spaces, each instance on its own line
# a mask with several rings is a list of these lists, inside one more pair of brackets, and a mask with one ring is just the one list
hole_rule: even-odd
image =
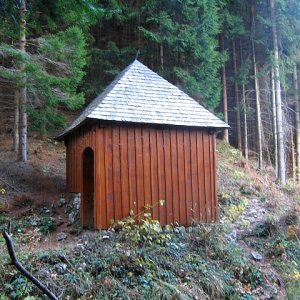
[[300,178],[296,0],[0,2],[1,131],[61,130],[136,57],[231,127],[220,137]]

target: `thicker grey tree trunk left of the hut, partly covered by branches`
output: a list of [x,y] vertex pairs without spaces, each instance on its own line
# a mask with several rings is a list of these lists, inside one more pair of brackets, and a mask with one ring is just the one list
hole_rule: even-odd
[[[26,52],[26,0],[21,1],[20,8],[20,50]],[[24,65],[21,64],[21,69]],[[19,159],[27,161],[27,96],[26,96],[26,77],[23,78],[23,86],[20,88],[20,143]]]

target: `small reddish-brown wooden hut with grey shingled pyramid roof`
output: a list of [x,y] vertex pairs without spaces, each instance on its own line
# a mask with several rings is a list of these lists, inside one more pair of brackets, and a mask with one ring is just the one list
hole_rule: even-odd
[[227,127],[135,60],[57,137],[81,223],[108,228],[145,206],[162,225],[215,221],[215,132]]

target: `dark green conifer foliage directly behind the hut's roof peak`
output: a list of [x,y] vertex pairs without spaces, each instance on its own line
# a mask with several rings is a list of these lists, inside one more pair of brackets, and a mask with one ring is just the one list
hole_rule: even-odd
[[[139,59],[146,65],[206,107],[216,109],[221,89],[219,68],[225,61],[218,51],[220,6],[215,0],[145,1],[139,5],[108,1],[103,7],[105,18],[100,21],[106,37],[95,43],[95,64],[89,77],[93,81],[94,74],[100,73],[100,82],[106,86],[139,48]],[[121,38],[107,30],[116,24]],[[89,90],[96,91],[95,84]]]

